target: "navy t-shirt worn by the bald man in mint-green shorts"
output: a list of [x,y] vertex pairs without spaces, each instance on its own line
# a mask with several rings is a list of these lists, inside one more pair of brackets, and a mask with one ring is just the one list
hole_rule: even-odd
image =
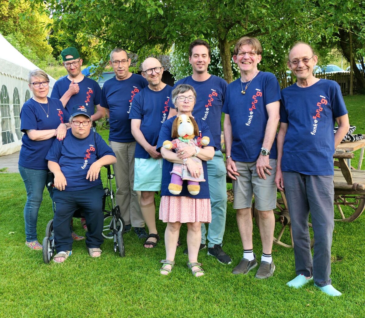
[[[161,125],[166,121],[170,107],[168,102],[171,96],[172,87],[166,85],[161,91],[153,91],[148,86],[143,88],[135,96],[132,102],[129,119],[140,119],[140,130],[143,133],[147,143],[152,146],[157,144],[158,134]],[[149,153],[137,143],[135,158],[148,159]]]

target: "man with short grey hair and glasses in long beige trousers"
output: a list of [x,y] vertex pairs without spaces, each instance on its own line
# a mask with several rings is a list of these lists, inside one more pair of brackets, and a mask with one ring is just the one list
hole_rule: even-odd
[[110,52],[109,65],[113,68],[115,76],[104,83],[100,105],[106,109],[109,117],[109,145],[117,158],[113,165],[116,203],[126,224],[125,232],[134,227],[138,238],[147,238],[138,194],[133,190],[136,141],[132,135],[129,114],[135,95],[145,88],[148,82],[141,75],[129,72],[131,59],[122,48]]

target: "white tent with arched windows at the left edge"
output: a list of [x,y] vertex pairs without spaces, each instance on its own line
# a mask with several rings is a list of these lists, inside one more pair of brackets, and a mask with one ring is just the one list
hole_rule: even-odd
[[[28,73],[38,69],[0,34],[0,156],[20,150],[20,109],[31,97]],[[49,76],[50,91],[56,80]]]

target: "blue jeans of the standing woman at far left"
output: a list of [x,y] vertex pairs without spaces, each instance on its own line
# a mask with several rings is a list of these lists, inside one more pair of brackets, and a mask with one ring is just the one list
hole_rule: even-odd
[[35,170],[18,166],[27,190],[24,207],[25,236],[27,242],[37,241],[37,218],[43,200],[43,190],[48,181],[48,170]]

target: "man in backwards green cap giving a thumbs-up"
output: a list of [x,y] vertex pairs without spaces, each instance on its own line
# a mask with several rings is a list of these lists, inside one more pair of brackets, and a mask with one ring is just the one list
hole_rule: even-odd
[[62,77],[54,84],[51,97],[59,99],[64,105],[65,122],[68,122],[74,105],[85,105],[91,111],[93,130],[96,132],[95,121],[105,116],[105,110],[100,107],[100,86],[95,80],[81,73],[82,58],[76,48],[62,50],[61,56],[68,76]]

